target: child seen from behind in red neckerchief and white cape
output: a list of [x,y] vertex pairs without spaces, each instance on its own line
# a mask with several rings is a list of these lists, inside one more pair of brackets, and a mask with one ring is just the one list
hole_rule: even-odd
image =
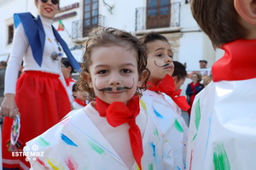
[[191,170],[256,169],[256,4],[253,0],[192,0],[192,14],[224,56],[191,111]]

